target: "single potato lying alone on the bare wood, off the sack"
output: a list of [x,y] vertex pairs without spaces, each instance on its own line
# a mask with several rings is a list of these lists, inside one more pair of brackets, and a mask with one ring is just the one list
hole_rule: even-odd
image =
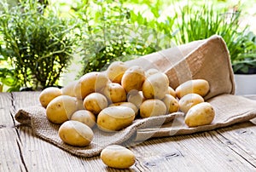
[[131,150],[124,146],[111,145],[102,150],[101,159],[108,167],[128,169],[135,163],[136,157]]

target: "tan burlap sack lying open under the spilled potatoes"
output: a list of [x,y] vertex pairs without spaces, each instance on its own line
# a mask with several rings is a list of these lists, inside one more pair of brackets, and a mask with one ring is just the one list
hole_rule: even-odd
[[205,98],[216,111],[213,122],[201,127],[188,128],[183,123],[182,112],[160,117],[137,118],[131,126],[119,132],[104,133],[94,128],[95,137],[90,146],[74,147],[61,141],[58,136],[59,125],[49,123],[42,106],[21,108],[16,113],[15,119],[20,123],[31,124],[38,137],[73,155],[93,157],[111,144],[136,144],[153,137],[192,134],[226,127],[256,117],[256,101],[233,95],[235,83],[230,56],[221,37],[212,36],[206,40],[148,54],[126,63],[129,66],[143,66],[145,69],[158,68],[167,74],[174,89],[180,83],[192,78],[207,79],[211,90]]

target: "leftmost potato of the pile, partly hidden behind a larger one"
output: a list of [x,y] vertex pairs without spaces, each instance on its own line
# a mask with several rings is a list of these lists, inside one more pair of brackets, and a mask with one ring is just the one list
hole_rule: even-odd
[[61,89],[57,87],[49,87],[44,89],[39,95],[39,101],[42,106],[48,106],[49,102],[53,100],[55,97],[60,96]]

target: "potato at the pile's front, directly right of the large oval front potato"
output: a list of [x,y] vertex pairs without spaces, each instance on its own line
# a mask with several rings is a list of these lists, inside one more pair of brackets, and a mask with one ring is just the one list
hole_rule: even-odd
[[163,101],[158,99],[144,100],[140,108],[140,116],[142,118],[149,118],[166,114],[166,105]]

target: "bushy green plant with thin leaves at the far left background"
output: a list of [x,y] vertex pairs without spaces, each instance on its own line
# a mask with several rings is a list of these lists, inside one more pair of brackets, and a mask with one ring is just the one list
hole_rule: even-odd
[[57,85],[72,57],[70,28],[53,9],[44,9],[32,0],[20,1],[11,9],[4,6],[0,14],[0,54],[12,69],[3,68],[1,72],[12,73],[9,86],[15,85],[17,90]]

